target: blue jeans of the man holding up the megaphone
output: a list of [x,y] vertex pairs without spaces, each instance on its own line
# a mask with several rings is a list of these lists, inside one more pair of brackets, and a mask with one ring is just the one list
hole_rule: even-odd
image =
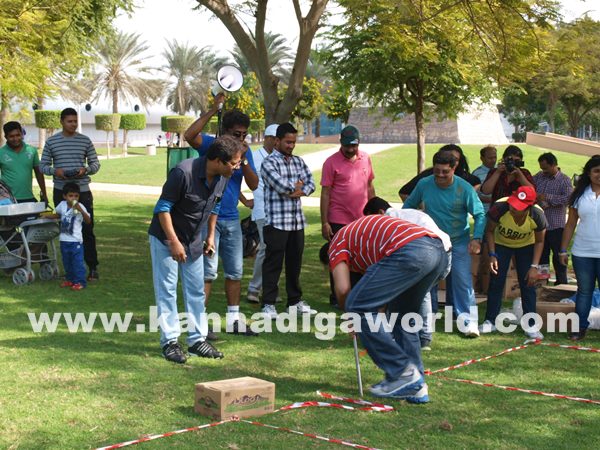
[[[204,231],[206,236],[206,227]],[[241,280],[244,273],[244,244],[239,220],[217,220],[215,229],[215,254],[204,256],[204,279],[217,279],[219,256],[223,261],[223,274],[228,280]]]

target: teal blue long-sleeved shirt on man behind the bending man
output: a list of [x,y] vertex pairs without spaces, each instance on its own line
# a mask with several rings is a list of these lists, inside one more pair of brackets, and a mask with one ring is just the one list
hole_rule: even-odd
[[435,184],[433,175],[423,178],[406,199],[403,208],[418,209],[421,202],[425,212],[431,216],[436,225],[450,236],[452,244],[468,242],[469,214],[475,220],[473,237],[477,239],[483,237],[485,228],[483,205],[473,186],[462,178],[455,176],[453,183],[447,188],[440,188]]

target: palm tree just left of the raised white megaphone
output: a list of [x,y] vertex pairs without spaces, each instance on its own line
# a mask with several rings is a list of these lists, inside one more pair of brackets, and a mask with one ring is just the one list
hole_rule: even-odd
[[177,114],[197,113],[209,106],[209,92],[219,66],[225,64],[209,47],[198,48],[177,41],[167,42],[163,52],[167,64],[162,71],[173,80],[167,92],[167,106]]

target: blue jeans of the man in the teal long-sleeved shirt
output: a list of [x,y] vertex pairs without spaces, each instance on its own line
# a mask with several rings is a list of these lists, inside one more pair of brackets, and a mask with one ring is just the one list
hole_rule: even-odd
[[468,315],[465,324],[471,321],[477,323],[477,315],[473,317],[470,314],[470,308],[476,303],[468,242],[452,242],[452,269],[446,278],[446,305],[452,306],[455,317]]

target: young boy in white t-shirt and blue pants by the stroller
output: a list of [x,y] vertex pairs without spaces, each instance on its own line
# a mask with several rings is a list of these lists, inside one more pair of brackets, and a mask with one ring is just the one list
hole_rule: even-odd
[[80,291],[86,287],[81,228],[83,222],[90,224],[92,219],[79,203],[78,184],[64,185],[63,201],[56,206],[56,217],[60,218],[60,252],[65,269],[65,281],[60,286]]

